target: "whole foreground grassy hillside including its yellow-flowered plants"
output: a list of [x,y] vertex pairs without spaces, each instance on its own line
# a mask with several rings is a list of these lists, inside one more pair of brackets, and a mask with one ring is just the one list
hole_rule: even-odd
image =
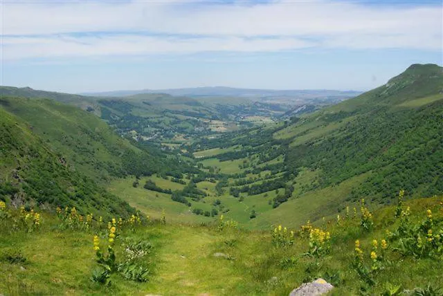
[[262,231],[226,219],[191,227],[169,216],[116,219],[112,230],[70,211],[12,230],[26,212],[2,205],[0,293],[288,295],[322,277],[336,287],[330,295],[442,295],[442,205],[441,197],[419,199],[399,216],[397,207],[369,216],[363,205],[339,221]]

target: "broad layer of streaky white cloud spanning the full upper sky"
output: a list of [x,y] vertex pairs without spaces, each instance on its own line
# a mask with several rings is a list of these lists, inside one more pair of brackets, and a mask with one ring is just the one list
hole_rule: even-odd
[[374,8],[329,1],[3,1],[1,6],[3,59],[306,47],[442,50],[441,6]]

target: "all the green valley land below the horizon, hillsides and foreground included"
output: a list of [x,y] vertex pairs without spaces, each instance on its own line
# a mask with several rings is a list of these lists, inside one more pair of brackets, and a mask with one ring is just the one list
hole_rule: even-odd
[[300,105],[1,86],[0,294],[442,295],[442,70]]

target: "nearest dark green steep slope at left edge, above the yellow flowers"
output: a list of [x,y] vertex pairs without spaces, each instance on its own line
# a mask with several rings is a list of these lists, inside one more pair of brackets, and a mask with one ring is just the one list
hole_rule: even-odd
[[[1,100],[1,104],[8,101]],[[127,216],[132,207],[71,168],[21,118],[0,108],[0,199],[26,207],[77,207],[82,213]]]

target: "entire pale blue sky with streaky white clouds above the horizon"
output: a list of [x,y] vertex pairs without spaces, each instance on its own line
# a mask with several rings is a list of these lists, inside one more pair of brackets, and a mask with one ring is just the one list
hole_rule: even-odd
[[0,0],[0,84],[366,91],[443,64],[442,1]]

